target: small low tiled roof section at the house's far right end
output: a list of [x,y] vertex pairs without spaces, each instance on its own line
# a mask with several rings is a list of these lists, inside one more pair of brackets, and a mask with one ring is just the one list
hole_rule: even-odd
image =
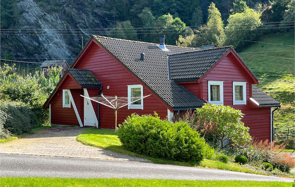
[[280,102],[268,96],[266,93],[252,85],[252,98],[259,104],[258,107],[263,106],[281,106]]

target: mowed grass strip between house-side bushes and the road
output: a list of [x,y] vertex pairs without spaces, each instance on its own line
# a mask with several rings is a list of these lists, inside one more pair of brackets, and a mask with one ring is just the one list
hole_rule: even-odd
[[[80,135],[78,135],[77,141],[85,145],[99,147],[99,148],[107,149],[110,151],[130,155],[130,156],[145,158],[152,161],[153,163],[171,164],[171,165],[179,165],[179,166],[197,166],[196,163],[194,162],[176,162],[176,161],[165,160],[160,158],[152,158],[149,156],[139,155],[131,151],[126,151],[122,148],[121,142],[118,136],[115,134],[114,130],[87,128]],[[208,159],[204,159],[201,162],[200,167],[270,176],[269,173],[253,171],[237,163],[223,163],[220,161],[212,161]]]

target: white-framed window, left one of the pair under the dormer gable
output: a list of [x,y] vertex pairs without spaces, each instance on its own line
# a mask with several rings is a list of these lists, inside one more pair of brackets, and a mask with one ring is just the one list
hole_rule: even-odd
[[223,105],[223,81],[208,81],[208,101]]

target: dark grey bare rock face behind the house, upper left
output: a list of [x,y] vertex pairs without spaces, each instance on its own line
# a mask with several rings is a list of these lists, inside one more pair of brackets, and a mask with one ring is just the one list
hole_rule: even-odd
[[[94,2],[96,7],[101,4]],[[82,49],[82,36],[86,44],[91,34],[106,34],[108,22],[101,21],[99,9],[88,11],[72,1],[64,4],[51,9],[33,0],[20,1],[17,6],[23,13],[9,34],[1,37],[1,56],[6,51],[15,58],[44,58],[35,60],[40,62],[56,58],[71,63]]]

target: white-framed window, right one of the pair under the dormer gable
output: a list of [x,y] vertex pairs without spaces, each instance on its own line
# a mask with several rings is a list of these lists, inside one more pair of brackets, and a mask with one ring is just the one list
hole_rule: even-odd
[[246,104],[246,82],[233,82],[233,105]]

